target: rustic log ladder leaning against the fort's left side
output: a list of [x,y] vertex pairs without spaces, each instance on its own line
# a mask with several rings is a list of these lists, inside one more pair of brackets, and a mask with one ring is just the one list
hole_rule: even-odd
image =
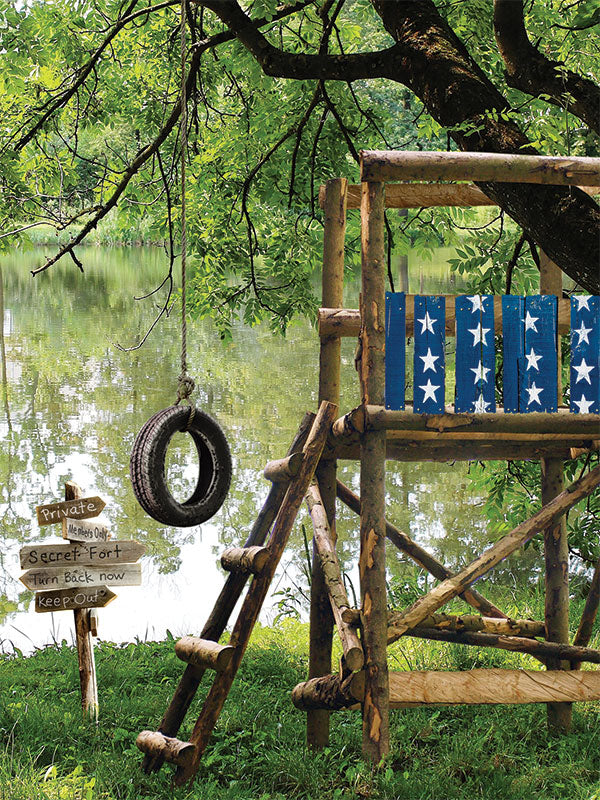
[[[316,415],[306,414],[288,456],[267,465],[265,475],[273,481],[271,490],[245,546],[229,548],[222,556],[221,563],[231,574],[200,637],[186,636],[175,645],[175,652],[187,667],[159,729],[142,731],[137,738],[138,747],[145,753],[144,771],[157,771],[164,761],[169,761],[177,767],[177,785],[191,780],[198,771],[336,414],[337,406],[327,402],[321,403]],[[269,531],[268,544],[263,546]],[[217,642],[251,574],[229,644],[220,645]],[[181,741],[175,737],[207,669],[216,673],[213,685],[189,741]]]

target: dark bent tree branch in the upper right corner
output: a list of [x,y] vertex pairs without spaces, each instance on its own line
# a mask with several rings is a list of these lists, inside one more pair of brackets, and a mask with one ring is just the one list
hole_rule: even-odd
[[494,33],[506,66],[506,82],[566,108],[600,135],[600,87],[552,61],[534,47],[525,29],[523,0],[494,0]]

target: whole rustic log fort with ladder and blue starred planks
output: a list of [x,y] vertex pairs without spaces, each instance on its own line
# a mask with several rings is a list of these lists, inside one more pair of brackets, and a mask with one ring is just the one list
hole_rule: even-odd
[[[600,483],[600,466],[570,486],[563,482],[566,459],[600,448],[600,298],[564,299],[561,272],[544,254],[535,297],[386,294],[384,249],[386,207],[493,205],[471,181],[579,186],[596,193],[600,159],[372,151],[362,153],[361,170],[360,186],[336,179],[320,196],[325,230],[318,413],[305,415],[287,457],[267,465],[271,491],[245,546],[223,555],[230,575],[201,636],[176,645],[187,666],[171,704],[158,731],[138,737],[146,771],[172,762],[177,783],[198,769],[304,499],[314,528],[310,663],[308,680],[295,687],[292,699],[307,712],[309,746],[327,743],[330,714],[341,708],[362,710],[363,754],[378,762],[389,750],[390,708],[543,702],[550,726],[568,730],[573,701],[600,699],[600,671],[580,669],[583,662],[600,663],[600,651],[587,646],[600,599],[600,566],[569,643],[564,523],[564,514]],[[346,216],[353,208],[360,208],[362,219],[357,310],[343,307]],[[501,353],[494,348],[498,334]],[[571,337],[569,407],[560,386],[563,334]],[[340,416],[340,339],[346,336],[358,337],[361,404]],[[411,355],[407,337],[414,344]],[[456,337],[454,385],[445,371],[446,337]],[[498,404],[494,376],[500,356]],[[339,459],[360,459],[360,497],[337,480]],[[452,573],[386,519],[387,459],[539,459],[543,505]],[[336,555],[336,498],[360,519],[360,609],[346,595]],[[544,538],[545,619],[508,618],[472,584],[537,534]],[[388,609],[386,539],[439,581],[407,609]],[[229,642],[217,644],[248,581]],[[440,612],[456,597],[474,613]],[[343,657],[332,670],[334,628]],[[390,673],[387,646],[401,636],[528,653],[545,670]],[[189,739],[182,741],[175,737],[207,669],[215,673],[212,687]]]

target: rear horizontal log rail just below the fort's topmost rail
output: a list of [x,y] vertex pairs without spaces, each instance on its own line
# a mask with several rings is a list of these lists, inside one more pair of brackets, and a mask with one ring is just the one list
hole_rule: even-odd
[[[580,186],[587,194],[600,193],[600,186]],[[360,208],[360,184],[349,184],[348,210]],[[385,187],[386,208],[432,208],[460,206],[495,206],[481,189],[469,183],[388,183]],[[325,186],[319,187],[319,205],[324,208]]]

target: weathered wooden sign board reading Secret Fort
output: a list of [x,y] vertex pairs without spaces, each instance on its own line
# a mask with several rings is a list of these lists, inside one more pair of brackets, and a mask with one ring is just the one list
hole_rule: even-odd
[[[75,523],[77,524],[77,523]],[[31,567],[109,567],[113,564],[131,564],[146,552],[136,541],[90,542],[73,544],[27,545],[19,551],[21,569]]]

